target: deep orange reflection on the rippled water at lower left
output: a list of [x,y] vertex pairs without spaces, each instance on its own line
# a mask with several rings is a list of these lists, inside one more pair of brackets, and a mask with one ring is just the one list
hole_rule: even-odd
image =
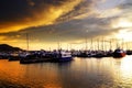
[[26,85],[32,88],[42,88],[42,85],[43,88],[62,88],[58,79],[57,67],[50,64],[47,66],[41,64],[21,65],[19,62],[0,61],[0,80]]

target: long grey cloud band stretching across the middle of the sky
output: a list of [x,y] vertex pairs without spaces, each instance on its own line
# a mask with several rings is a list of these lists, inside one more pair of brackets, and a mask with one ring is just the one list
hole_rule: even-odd
[[[0,35],[10,36],[16,38],[18,35],[25,40],[26,33],[29,33],[31,40],[40,40],[45,42],[62,42],[77,41],[87,38],[94,38],[98,36],[106,36],[118,32],[120,29],[110,28],[110,23],[113,18],[98,19],[96,16],[89,16],[82,20],[73,20],[53,25],[31,28],[19,32],[1,33]],[[114,18],[116,19],[116,18]]]

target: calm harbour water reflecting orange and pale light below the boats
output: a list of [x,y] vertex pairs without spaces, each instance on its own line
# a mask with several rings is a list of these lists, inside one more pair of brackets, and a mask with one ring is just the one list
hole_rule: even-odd
[[0,88],[132,88],[132,56],[22,65],[0,59]]

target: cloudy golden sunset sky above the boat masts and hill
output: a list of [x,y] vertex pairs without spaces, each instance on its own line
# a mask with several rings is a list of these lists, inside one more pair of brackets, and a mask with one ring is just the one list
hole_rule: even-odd
[[0,44],[67,47],[90,38],[132,41],[132,0],[0,0]]

